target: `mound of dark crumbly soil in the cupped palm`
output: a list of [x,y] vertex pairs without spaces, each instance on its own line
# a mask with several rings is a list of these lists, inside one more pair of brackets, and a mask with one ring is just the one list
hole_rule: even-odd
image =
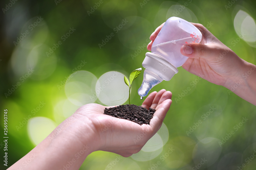
[[155,113],[155,109],[141,107],[134,104],[126,104],[126,105],[120,105],[113,108],[105,108],[104,114],[118,117],[120,119],[126,119],[133,121],[135,123],[138,123],[140,125],[142,124],[149,124],[150,120],[153,117],[153,114]]

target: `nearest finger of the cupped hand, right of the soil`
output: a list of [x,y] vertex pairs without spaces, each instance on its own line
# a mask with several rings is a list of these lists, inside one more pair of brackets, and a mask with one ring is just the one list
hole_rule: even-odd
[[150,126],[154,129],[155,134],[159,128],[162,126],[163,120],[168,112],[170,105],[172,103],[171,99],[163,101],[157,111],[154,113],[153,118],[150,121]]

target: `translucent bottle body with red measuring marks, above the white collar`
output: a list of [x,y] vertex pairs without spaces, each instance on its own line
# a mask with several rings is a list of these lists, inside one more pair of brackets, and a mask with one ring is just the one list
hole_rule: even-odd
[[194,25],[184,19],[171,17],[157,35],[151,52],[163,57],[177,68],[188,59],[180,53],[180,48],[184,44],[199,43],[201,38],[201,32]]

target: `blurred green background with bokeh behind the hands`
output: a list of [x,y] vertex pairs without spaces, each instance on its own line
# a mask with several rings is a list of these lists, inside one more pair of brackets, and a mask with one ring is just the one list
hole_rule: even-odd
[[[10,3],[0,3],[0,124],[3,134],[3,110],[8,109],[8,167],[72,115],[79,105],[90,101],[104,104],[92,97],[97,80],[109,71],[129,76],[131,71],[142,67],[148,52],[143,44],[148,44],[151,33],[169,17],[203,24],[239,57],[256,64],[255,41],[247,41],[255,38],[255,1],[19,0]],[[238,20],[234,22],[236,16]],[[250,22],[244,21],[244,16]],[[244,40],[235,31],[241,27],[251,31]],[[158,133],[162,139],[158,136],[152,140],[155,148],[159,140],[166,144],[157,150],[153,147],[151,152],[122,157],[118,162],[114,153],[93,152],[80,169],[238,169],[243,163],[246,165],[243,169],[255,169],[256,107],[222,86],[199,80],[182,67],[178,70],[172,80],[163,81],[151,90],[164,88],[173,94],[164,120],[167,128]],[[68,79],[76,71],[82,71],[74,76],[76,81],[83,81],[80,84],[72,84]],[[141,74],[133,82],[132,104],[142,104],[137,94],[142,80]],[[186,91],[188,87],[190,91]],[[113,94],[116,95],[119,94]],[[104,99],[107,100],[106,96]],[[123,103],[129,102],[119,104]],[[241,123],[243,118],[248,120]],[[199,120],[202,123],[198,125]],[[230,136],[231,130],[234,134]],[[0,140],[1,169],[6,169],[3,140]],[[170,149],[174,150],[170,153]]]

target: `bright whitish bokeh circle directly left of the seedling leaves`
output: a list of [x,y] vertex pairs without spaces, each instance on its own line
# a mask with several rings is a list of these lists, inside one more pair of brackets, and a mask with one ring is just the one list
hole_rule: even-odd
[[116,71],[103,74],[96,83],[95,92],[106,106],[123,104],[129,98],[129,87],[124,83],[124,75]]

